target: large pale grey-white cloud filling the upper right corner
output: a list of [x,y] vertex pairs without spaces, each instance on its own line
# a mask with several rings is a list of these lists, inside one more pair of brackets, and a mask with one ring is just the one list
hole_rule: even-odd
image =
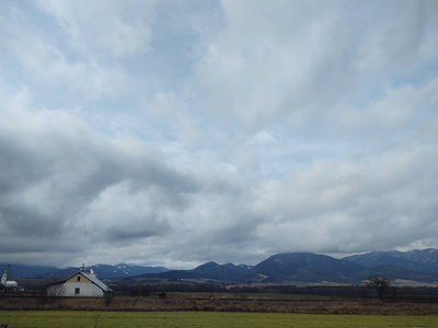
[[197,77],[211,110],[249,126],[325,119],[400,80],[423,79],[418,62],[438,56],[433,1],[222,1],[222,8],[227,27],[210,39]]

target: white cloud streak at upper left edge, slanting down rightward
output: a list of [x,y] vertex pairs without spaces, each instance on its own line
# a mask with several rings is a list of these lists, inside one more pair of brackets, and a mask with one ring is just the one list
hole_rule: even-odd
[[50,91],[54,98],[62,95],[80,103],[103,96],[114,97],[128,90],[131,81],[118,65],[107,67],[92,58],[69,57],[67,49],[60,49],[35,34],[26,26],[28,19],[19,9],[15,11],[0,21],[5,32],[2,38],[4,51],[11,56],[3,63],[21,65],[25,73],[15,68],[11,75],[23,74],[22,83],[32,85],[31,92]]

